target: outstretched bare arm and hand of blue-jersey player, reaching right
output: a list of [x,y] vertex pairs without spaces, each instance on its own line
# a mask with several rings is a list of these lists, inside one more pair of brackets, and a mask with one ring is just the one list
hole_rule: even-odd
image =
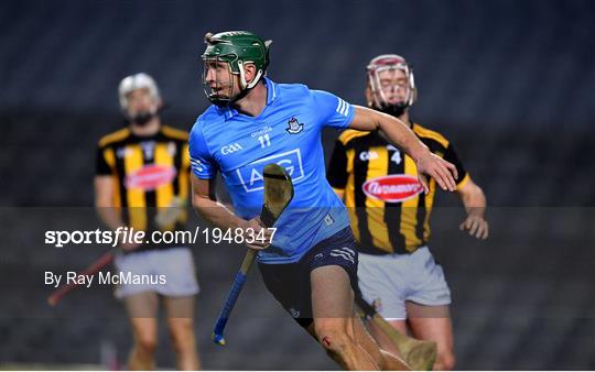
[[434,178],[442,189],[456,190],[456,167],[431,153],[401,120],[361,106],[354,107],[355,117],[349,127],[360,131],[380,130],[390,142],[403,149],[415,161],[425,193],[430,190],[428,176]]

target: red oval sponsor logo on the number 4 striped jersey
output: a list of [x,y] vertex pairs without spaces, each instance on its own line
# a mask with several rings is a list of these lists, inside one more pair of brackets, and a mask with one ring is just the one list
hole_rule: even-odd
[[418,178],[402,174],[372,178],[361,188],[367,196],[388,203],[404,201],[423,192]]

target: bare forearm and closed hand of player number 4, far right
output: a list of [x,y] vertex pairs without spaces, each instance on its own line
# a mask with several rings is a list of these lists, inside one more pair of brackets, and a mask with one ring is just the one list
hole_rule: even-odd
[[486,196],[482,188],[470,178],[464,183],[457,190],[467,217],[459,225],[461,231],[468,231],[469,236],[477,239],[487,239],[489,234],[489,225],[486,221]]

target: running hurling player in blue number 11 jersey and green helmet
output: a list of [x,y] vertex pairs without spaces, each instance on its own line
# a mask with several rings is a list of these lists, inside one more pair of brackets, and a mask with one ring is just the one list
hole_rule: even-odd
[[[357,252],[343,203],[325,178],[324,127],[381,130],[409,154],[428,189],[428,176],[456,190],[456,168],[401,121],[351,106],[300,84],[264,77],[270,41],[245,31],[208,33],[203,83],[212,105],[194,124],[190,152],[193,204],[223,229],[261,231],[262,168],[277,163],[290,173],[295,196],[259,250],[264,284],[279,303],[342,368],[402,370],[407,364],[379,349],[354,316]],[[220,172],[234,211],[218,204],[213,179]]]

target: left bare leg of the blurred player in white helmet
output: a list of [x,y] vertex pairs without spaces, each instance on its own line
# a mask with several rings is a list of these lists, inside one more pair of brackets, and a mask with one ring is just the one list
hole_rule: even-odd
[[154,292],[143,292],[123,298],[134,344],[128,358],[128,369],[133,371],[153,370],[154,353],[158,343],[158,295]]

